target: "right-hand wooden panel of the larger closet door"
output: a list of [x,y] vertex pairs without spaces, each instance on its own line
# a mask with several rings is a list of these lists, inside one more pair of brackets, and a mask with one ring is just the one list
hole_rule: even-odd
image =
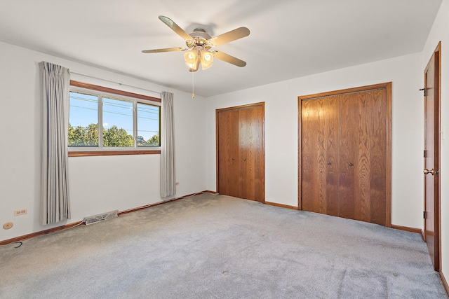
[[387,92],[340,95],[340,216],[386,225]]

